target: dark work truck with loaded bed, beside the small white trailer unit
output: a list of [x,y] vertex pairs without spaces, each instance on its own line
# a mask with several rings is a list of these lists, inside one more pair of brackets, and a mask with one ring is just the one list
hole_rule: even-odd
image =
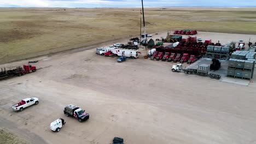
[[86,113],[84,110],[74,105],[67,105],[63,112],[67,117],[72,116],[77,118],[79,122],[86,121],[90,117],[89,113]]

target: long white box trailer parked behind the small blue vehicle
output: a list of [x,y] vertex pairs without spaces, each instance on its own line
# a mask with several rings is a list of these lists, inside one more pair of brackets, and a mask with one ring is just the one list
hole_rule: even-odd
[[138,50],[116,48],[112,52],[120,57],[138,58]]

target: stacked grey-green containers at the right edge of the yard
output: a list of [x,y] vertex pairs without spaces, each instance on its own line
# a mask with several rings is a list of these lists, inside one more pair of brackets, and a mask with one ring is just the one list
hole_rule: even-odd
[[254,73],[255,53],[253,49],[233,52],[229,59],[228,76],[251,80]]

